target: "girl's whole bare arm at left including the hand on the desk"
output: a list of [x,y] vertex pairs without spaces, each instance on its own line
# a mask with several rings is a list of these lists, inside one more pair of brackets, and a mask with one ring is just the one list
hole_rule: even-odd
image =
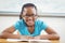
[[15,31],[14,26],[6,28],[2,34],[0,34],[0,39],[32,39],[32,37],[21,35],[21,34],[13,34]]

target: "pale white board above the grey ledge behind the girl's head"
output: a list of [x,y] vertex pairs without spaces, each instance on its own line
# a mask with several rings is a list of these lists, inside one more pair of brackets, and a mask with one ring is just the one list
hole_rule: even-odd
[[65,16],[65,0],[0,0],[0,13],[16,15],[24,3],[36,4],[40,15]]

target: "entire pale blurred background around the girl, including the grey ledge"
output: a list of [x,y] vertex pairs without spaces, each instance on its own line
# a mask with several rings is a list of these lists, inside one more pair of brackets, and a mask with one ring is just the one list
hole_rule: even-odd
[[34,3],[38,18],[60,34],[61,43],[65,42],[65,0],[0,0],[0,33],[20,19],[24,3]]

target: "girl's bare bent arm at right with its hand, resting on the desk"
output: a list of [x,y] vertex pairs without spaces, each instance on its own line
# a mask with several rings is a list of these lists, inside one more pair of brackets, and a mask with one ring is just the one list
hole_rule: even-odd
[[[42,35],[39,35],[38,38],[48,39],[48,40],[58,40],[60,39],[60,35],[53,29],[51,29],[50,27],[48,27],[46,29],[46,32],[48,34],[42,34]],[[35,37],[35,38],[37,38],[37,37]]]

